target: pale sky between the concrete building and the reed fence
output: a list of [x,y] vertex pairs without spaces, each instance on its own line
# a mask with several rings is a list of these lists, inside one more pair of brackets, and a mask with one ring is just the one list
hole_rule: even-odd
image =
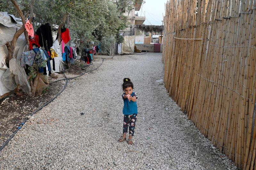
[[[162,25],[164,11],[164,3],[167,0],[144,0],[143,4],[138,12],[139,16],[145,16],[145,25]],[[135,14],[137,11],[135,11]],[[145,15],[144,15],[145,13]]]

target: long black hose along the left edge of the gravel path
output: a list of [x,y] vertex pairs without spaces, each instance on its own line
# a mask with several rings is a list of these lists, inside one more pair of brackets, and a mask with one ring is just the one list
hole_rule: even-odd
[[[104,58],[102,60],[102,63],[104,61]],[[102,65],[102,63],[100,64],[100,66]],[[90,66],[90,65],[88,65]],[[96,69],[98,69],[100,66],[98,66],[97,68],[93,69],[93,70],[90,70],[90,71],[87,71],[85,73],[88,73],[88,72],[92,72]],[[62,81],[62,80],[66,80],[66,84],[65,86],[63,87],[63,89],[55,96],[53,97],[50,101],[48,101],[47,103],[45,103],[43,106],[39,107],[36,111],[34,111],[33,113],[31,113],[29,116],[32,116],[34,115],[36,112],[40,111],[44,106],[46,106],[47,104],[51,103],[56,97],[58,97],[65,89],[66,87],[68,86],[68,80],[70,79],[75,79],[77,77],[80,77],[82,75],[84,75],[85,73],[79,75],[79,76],[76,76],[76,77],[72,77],[72,78],[67,78],[67,76],[65,75],[65,70],[63,71],[63,74],[64,74],[64,77],[65,79],[61,79],[61,80],[58,80],[58,81]],[[57,81],[53,81],[52,83],[54,82],[57,82]],[[15,132],[13,132],[12,136],[4,143],[4,145],[0,148],[0,151],[2,151],[4,149],[4,147],[10,142],[10,140],[13,138],[13,136],[22,128],[22,126],[26,123],[26,121],[28,120],[28,118],[26,118],[22,123],[20,123],[19,127],[17,128],[17,130]]]

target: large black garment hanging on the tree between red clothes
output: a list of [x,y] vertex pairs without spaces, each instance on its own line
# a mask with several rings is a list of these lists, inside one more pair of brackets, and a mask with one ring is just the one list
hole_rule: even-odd
[[39,28],[37,28],[36,34],[39,36],[39,44],[41,47],[44,47],[44,50],[50,52],[50,49],[53,45],[52,30],[50,24],[42,24]]

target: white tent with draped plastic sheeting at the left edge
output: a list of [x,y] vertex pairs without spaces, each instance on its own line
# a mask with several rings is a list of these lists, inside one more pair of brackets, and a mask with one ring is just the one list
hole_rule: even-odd
[[8,56],[5,43],[12,41],[16,30],[20,29],[21,26],[21,19],[17,19],[7,12],[0,12],[0,98],[14,90],[17,83],[20,84],[23,92],[28,95],[31,94],[30,86],[26,80],[27,75],[24,68],[20,66],[20,56],[25,49],[28,49],[24,34],[21,34],[16,42],[13,55],[17,60],[15,58],[10,60],[10,68],[5,63],[5,58]]

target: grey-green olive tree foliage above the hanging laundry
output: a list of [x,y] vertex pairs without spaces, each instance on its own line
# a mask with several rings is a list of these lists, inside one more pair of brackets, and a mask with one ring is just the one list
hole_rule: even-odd
[[[18,17],[14,5],[8,0],[0,0],[0,10],[7,11]],[[139,0],[141,1],[141,0]],[[17,0],[21,10],[26,13],[30,10],[30,0]],[[80,46],[104,44],[114,40],[123,41],[119,30],[127,27],[122,10],[134,8],[135,0],[35,0],[33,27],[36,30],[41,24],[50,23],[60,25],[64,14],[68,14],[69,22],[66,27],[70,30],[71,41]],[[103,40],[107,38],[108,40]],[[41,64],[44,65],[42,62]],[[37,65],[41,65],[37,63]]]

